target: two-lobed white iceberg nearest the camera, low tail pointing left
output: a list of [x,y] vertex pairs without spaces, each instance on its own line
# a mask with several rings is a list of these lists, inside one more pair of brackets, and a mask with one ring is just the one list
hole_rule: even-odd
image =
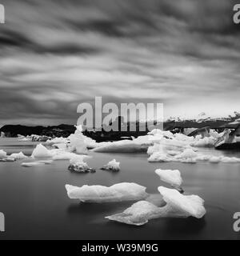
[[140,201],[134,203],[121,214],[114,214],[106,218],[129,225],[142,226],[154,218],[202,218],[206,214],[204,200],[196,195],[182,195],[178,190],[158,187],[166,206],[158,207],[151,202]]

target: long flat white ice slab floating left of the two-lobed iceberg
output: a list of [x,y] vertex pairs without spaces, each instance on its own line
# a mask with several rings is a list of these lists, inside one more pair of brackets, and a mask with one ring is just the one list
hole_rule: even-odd
[[114,186],[71,186],[66,185],[66,191],[71,199],[81,202],[121,202],[138,201],[146,198],[146,187],[136,183],[118,183]]

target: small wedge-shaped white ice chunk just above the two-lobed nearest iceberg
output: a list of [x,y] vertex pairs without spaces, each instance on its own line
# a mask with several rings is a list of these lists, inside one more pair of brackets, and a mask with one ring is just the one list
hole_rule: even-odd
[[180,187],[182,185],[182,177],[179,170],[162,170],[157,169],[155,173],[161,178],[162,182],[166,182],[171,186]]

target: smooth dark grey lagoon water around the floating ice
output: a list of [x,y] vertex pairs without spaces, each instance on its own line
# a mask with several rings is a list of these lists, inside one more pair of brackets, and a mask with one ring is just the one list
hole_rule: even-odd
[[[36,142],[17,142],[1,138],[0,149],[8,154],[30,155]],[[210,154],[240,157],[238,153],[206,150]],[[91,167],[99,168],[113,158],[121,162],[121,171],[112,174],[97,170],[95,174],[74,174],[68,161],[24,168],[22,161],[0,162],[0,212],[5,214],[6,232],[0,239],[239,239],[233,230],[235,212],[240,211],[240,165],[149,163],[146,154],[92,154]],[[110,222],[105,216],[122,212],[132,202],[82,204],[70,200],[65,184],[76,186],[111,186],[118,182],[137,182],[147,192],[159,197],[161,182],[154,170],[178,169],[183,188],[206,200],[202,219],[162,218],[145,226],[126,226]]]

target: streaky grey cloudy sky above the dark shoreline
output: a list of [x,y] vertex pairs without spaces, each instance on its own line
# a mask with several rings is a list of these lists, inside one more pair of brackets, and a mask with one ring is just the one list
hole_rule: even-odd
[[236,1],[0,2],[0,126],[75,123],[95,96],[166,117],[240,110]]

